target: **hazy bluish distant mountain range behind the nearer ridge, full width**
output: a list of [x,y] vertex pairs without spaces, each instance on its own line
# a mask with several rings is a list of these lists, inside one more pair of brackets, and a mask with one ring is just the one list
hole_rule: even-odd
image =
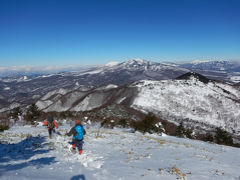
[[238,63],[228,61],[194,61],[192,63],[155,63],[141,59],[78,71],[30,76],[8,76],[0,79],[0,112],[36,102],[49,91],[64,88],[94,89],[108,84],[126,85],[138,80],[174,79],[187,72],[197,72],[209,79],[228,83],[240,82]]

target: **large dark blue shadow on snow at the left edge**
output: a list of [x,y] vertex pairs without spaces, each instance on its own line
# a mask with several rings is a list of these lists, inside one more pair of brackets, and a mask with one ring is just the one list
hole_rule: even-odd
[[[16,144],[0,144],[0,176],[7,171],[22,169],[28,166],[36,166],[37,168],[43,165],[55,163],[55,157],[39,158],[27,161],[31,157],[49,152],[51,149],[42,149],[48,146],[44,143],[44,137],[28,137]],[[14,161],[15,164],[11,163]],[[17,161],[24,161],[16,164]],[[8,163],[8,164],[6,164]]]

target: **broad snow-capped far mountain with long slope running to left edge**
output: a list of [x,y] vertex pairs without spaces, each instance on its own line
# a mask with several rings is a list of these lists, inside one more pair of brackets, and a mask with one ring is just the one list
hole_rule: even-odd
[[[74,90],[97,88],[108,84],[124,85],[137,80],[162,80],[175,78],[187,69],[144,60],[108,63],[88,70],[64,72],[41,76],[22,76],[0,80],[0,112],[13,103],[30,104],[42,95],[56,89]],[[3,109],[4,108],[4,109]]]

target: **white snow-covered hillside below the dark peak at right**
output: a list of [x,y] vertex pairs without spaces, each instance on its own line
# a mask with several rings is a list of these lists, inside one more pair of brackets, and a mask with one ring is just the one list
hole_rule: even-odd
[[240,135],[240,91],[217,82],[189,80],[140,81],[131,107],[172,122],[195,127],[222,127]]

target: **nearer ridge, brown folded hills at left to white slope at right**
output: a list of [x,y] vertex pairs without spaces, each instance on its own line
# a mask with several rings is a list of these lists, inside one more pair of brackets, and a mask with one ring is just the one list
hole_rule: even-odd
[[184,122],[199,131],[221,127],[240,136],[239,89],[196,73],[187,73],[175,80],[140,80],[128,86],[112,85],[44,97],[37,105],[45,112],[90,111],[120,104],[145,113],[153,112],[176,124]]

